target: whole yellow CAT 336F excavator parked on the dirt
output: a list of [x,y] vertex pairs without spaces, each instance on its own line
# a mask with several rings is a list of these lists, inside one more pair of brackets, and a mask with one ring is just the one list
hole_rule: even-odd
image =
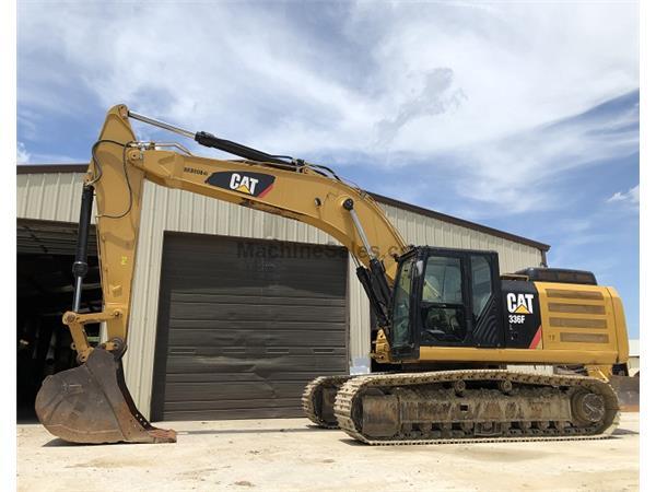
[[[130,119],[242,159],[138,141]],[[154,427],[139,412],[121,364],[144,179],[314,225],[348,248],[377,321],[376,372],[311,382],[302,405],[315,424],[368,444],[599,438],[617,426],[608,378],[613,364],[628,360],[624,313],[617,292],[597,285],[593,273],[501,274],[495,251],[408,245],[365,191],[328,167],[184,130],[125,105],[109,109],[91,154],[73,305],[63,315],[80,365],[46,378],[35,403],[54,435],[74,443],[176,441],[175,431]],[[103,311],[80,313],[94,197]],[[92,323],[106,324],[96,347],[84,331]],[[507,368],[522,364],[579,372]]]

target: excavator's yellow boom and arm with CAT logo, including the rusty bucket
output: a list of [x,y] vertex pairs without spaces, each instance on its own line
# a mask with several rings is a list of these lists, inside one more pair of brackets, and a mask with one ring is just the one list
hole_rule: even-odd
[[[130,118],[244,160],[199,157],[178,143],[139,142]],[[389,285],[396,273],[395,258],[407,247],[385,213],[364,191],[345,184],[326,167],[273,156],[211,133],[194,133],[130,113],[124,105],[115,106],[92,149],[73,265],[75,294],[72,309],[63,315],[81,365],[46,378],[35,405],[40,422],[52,434],[78,443],[176,440],[174,431],[153,427],[138,411],[122,374],[147,179],[295,219],[325,231],[343,244],[360,265],[358,277],[380,321],[385,320]],[[94,197],[103,311],[81,313]],[[84,331],[84,325],[90,323],[105,323],[107,328],[107,340],[95,348],[90,345]]]

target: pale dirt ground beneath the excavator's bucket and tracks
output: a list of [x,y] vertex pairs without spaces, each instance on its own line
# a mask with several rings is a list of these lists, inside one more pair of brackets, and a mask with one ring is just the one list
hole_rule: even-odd
[[[164,426],[164,425],[162,425]],[[17,427],[20,491],[589,490],[639,487],[639,414],[604,441],[371,447],[305,419],[173,422],[177,444],[68,445]]]

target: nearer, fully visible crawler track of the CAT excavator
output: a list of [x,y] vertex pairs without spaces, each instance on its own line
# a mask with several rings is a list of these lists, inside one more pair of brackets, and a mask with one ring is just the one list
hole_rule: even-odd
[[347,434],[372,445],[598,440],[620,418],[613,389],[598,379],[488,370],[351,378],[335,414]]

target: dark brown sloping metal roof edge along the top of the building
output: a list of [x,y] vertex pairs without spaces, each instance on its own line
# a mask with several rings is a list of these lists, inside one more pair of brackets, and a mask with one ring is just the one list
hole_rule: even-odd
[[[39,173],[85,173],[89,164],[19,164],[16,165],[16,174],[39,174]],[[391,207],[396,207],[401,210],[408,210],[410,212],[419,213],[421,215],[426,215],[433,219],[437,219],[444,222],[448,222],[455,225],[459,225],[462,227],[471,229],[473,231],[479,231],[485,234],[490,234],[492,236],[502,237],[504,239],[508,239],[515,243],[524,244],[527,246],[535,247],[543,253],[547,253],[551,246],[544,243],[540,243],[538,241],[529,239],[527,237],[518,236],[516,234],[511,234],[505,231],[500,231],[494,227],[489,227],[487,225],[478,224],[476,222],[470,222],[465,219],[458,219],[453,215],[447,215],[446,213],[436,212],[434,210],[424,209],[423,207],[418,207],[411,203],[407,203],[405,201],[396,200],[394,198],[385,197],[383,195],[378,195],[372,191],[366,191],[371,195],[376,201],[380,203],[386,203]]]

